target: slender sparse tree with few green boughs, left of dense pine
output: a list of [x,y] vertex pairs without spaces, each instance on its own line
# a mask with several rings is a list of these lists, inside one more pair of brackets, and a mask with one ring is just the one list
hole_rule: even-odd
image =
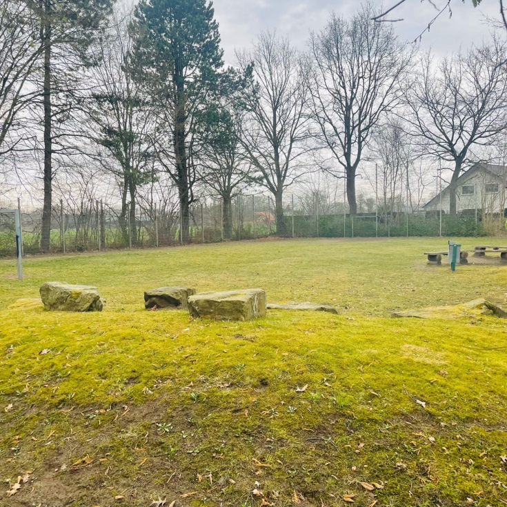
[[135,243],[137,190],[154,176],[155,121],[150,101],[139,82],[132,79],[132,38],[128,30],[131,16],[121,19],[120,15],[117,13],[107,37],[101,41],[100,63],[92,76],[96,86],[85,102],[85,112],[91,121],[90,137],[110,155],[104,158],[99,152],[101,166],[119,183],[123,237],[132,235]]

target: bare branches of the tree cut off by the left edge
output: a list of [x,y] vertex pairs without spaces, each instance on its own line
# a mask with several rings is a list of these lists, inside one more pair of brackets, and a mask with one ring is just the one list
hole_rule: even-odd
[[[0,155],[12,151],[19,138],[12,127],[34,97],[30,77],[41,54],[37,16],[19,0],[0,2]],[[11,139],[9,139],[9,137]]]

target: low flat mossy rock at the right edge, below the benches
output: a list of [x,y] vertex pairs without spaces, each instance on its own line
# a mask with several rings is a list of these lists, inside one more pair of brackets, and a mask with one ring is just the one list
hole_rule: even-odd
[[474,299],[468,303],[455,306],[435,306],[395,312],[391,317],[414,317],[416,319],[459,319],[459,317],[481,317],[482,315],[496,315],[507,319],[507,312],[486,299]]

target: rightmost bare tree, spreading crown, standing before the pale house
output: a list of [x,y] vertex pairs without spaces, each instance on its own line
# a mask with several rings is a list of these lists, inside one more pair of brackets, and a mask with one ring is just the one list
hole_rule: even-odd
[[488,146],[507,128],[506,45],[474,47],[444,58],[435,68],[429,54],[406,94],[412,133],[428,155],[453,162],[450,215],[456,215],[457,179],[468,152]]

